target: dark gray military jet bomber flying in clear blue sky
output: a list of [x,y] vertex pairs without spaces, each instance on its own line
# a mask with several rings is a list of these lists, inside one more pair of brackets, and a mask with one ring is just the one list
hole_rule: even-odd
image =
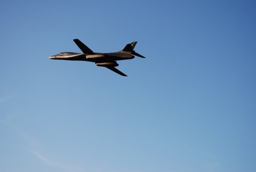
[[89,61],[94,62],[100,67],[106,67],[119,75],[127,76],[123,72],[119,71],[115,67],[118,66],[117,60],[129,60],[133,59],[134,56],[139,56],[140,58],[145,58],[144,56],[136,53],[133,49],[137,42],[132,42],[127,44],[123,50],[114,53],[94,53],[89,47],[84,45],[79,39],[74,39],[76,45],[82,50],[83,53],[72,53],[63,52],[56,55],[52,55],[49,59],[54,60],[75,60],[75,61]]

